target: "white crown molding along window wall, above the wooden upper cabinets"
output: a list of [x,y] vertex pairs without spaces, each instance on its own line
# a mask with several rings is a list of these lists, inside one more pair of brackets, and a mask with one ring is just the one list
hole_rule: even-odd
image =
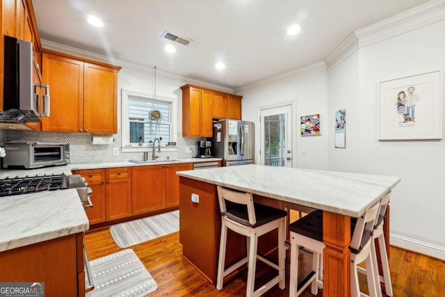
[[[83,49],[78,49],[76,47],[70,47],[68,45],[61,45],[60,43],[52,42],[49,40],[42,39],[41,42],[42,42],[42,47],[44,49],[60,51],[65,54],[78,56],[79,58],[86,58],[92,61],[108,63],[112,65],[119,65],[120,67],[122,67],[119,74],[127,74],[133,77],[140,77],[143,79],[154,79],[154,67],[147,67],[135,63],[130,63],[127,61],[122,61],[118,58],[114,58],[111,56],[104,56],[102,54],[97,54],[92,51],[86,51]],[[215,90],[220,90],[226,93],[234,93],[234,90],[232,88],[219,86],[213,83],[208,83],[206,81],[200,81],[199,79],[191,79],[190,77],[184,77],[179,74],[166,72],[159,69],[156,69],[156,80],[162,83],[168,83],[173,86],[182,86],[186,83],[191,83],[197,86],[203,86]]]

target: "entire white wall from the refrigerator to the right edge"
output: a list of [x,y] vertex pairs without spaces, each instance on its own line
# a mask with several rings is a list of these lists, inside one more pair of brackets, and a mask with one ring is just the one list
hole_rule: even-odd
[[[301,137],[299,125],[293,126],[296,167],[401,177],[391,194],[390,243],[441,259],[445,259],[445,141],[378,141],[377,129],[380,81],[442,70],[444,84],[445,38],[438,38],[444,32],[442,21],[359,47],[326,74],[259,90],[242,101],[243,120],[257,127],[259,108],[279,102],[296,104],[294,120],[321,113],[322,136]],[[444,86],[441,96],[443,101]],[[334,113],[339,109],[346,109],[346,149],[334,148]],[[444,120],[441,125],[445,131]],[[258,153],[259,129],[255,139]]]

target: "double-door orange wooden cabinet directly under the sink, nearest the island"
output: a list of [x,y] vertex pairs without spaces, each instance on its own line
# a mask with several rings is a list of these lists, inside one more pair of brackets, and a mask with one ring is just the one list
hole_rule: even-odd
[[177,171],[192,170],[193,163],[133,167],[133,216],[179,206]]

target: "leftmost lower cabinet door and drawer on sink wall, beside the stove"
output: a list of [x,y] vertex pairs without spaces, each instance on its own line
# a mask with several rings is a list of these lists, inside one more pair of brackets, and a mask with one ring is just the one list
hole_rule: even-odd
[[76,170],[74,173],[85,177],[85,181],[92,190],[90,198],[94,207],[85,211],[90,225],[105,222],[105,170]]

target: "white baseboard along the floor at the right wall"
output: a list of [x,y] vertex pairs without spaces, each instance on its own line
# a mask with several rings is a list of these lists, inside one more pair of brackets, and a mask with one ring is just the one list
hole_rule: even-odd
[[413,252],[419,252],[423,255],[445,260],[445,248],[443,246],[435,246],[430,243],[396,234],[389,234],[389,244],[391,246],[398,246],[405,250],[412,250]]

